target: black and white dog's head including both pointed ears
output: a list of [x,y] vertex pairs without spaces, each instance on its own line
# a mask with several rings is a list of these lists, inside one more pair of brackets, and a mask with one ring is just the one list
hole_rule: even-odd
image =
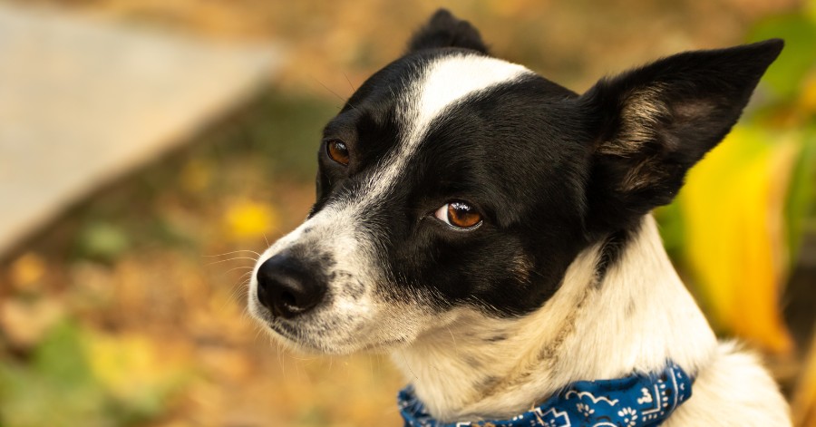
[[544,306],[578,253],[671,201],[782,49],[681,53],[578,95],[432,16],[330,121],[306,222],[258,259],[249,308],[284,342],[413,342],[461,310]]

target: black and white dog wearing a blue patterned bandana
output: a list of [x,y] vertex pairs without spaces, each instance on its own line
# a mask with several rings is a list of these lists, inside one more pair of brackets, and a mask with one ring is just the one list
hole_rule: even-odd
[[679,53],[578,94],[438,11],[325,126],[316,203],[257,259],[249,312],[300,351],[392,354],[406,425],[790,425],[650,214],[782,45]]

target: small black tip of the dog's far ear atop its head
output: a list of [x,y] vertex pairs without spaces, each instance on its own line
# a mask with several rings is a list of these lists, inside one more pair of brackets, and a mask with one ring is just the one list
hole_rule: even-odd
[[436,11],[428,24],[413,34],[408,42],[408,53],[438,47],[461,47],[488,53],[479,30],[471,23],[457,19],[445,9]]

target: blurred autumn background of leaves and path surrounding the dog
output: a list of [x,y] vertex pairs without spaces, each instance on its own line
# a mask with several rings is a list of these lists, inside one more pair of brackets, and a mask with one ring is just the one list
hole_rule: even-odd
[[400,425],[387,357],[289,354],[244,295],[314,199],[325,121],[441,5],[577,92],[786,40],[656,215],[816,426],[816,1],[0,0],[0,427]]

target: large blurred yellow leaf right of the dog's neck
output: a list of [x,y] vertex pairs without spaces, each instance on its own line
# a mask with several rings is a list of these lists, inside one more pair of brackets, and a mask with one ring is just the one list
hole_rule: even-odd
[[714,325],[785,353],[779,294],[787,279],[783,207],[795,136],[736,127],[681,192],[685,258]]

